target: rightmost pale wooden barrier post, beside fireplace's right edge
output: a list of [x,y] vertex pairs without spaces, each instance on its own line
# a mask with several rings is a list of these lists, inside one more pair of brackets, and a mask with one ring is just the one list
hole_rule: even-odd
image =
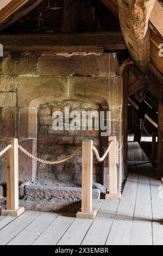
[[110,136],[109,141],[113,141],[109,151],[109,193],[106,193],[105,199],[120,199],[121,192],[117,190],[117,139],[116,136]]

